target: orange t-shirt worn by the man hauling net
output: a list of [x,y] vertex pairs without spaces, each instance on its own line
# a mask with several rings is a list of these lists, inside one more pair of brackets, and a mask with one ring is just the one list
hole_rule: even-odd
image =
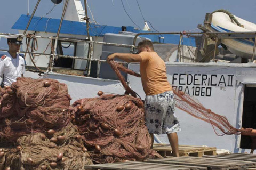
[[157,53],[143,51],[139,55],[142,58],[140,62],[141,82],[146,95],[172,91],[172,86],[167,80],[165,63]]

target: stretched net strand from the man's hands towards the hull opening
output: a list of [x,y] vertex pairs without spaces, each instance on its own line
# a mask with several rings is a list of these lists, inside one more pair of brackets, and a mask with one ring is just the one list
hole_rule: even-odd
[[[132,91],[131,88],[126,84],[124,77],[119,72],[119,70],[122,70],[129,73],[131,70],[114,61],[110,61],[109,63],[113,70],[116,72],[122,84],[125,84],[125,90],[131,92],[131,94],[134,94],[135,92]],[[136,76],[139,77],[139,74],[136,74]],[[228,122],[228,119],[225,116],[215,114],[210,109],[205,108],[199,101],[189,96],[188,94],[179,91],[177,88],[175,88],[173,92],[175,94],[175,107],[187,112],[191,116],[210,123],[214,129],[215,134],[218,136],[223,136],[225,134],[241,134],[241,132],[249,132],[252,130],[252,128],[237,129]],[[215,127],[218,128],[222,134],[218,133]]]

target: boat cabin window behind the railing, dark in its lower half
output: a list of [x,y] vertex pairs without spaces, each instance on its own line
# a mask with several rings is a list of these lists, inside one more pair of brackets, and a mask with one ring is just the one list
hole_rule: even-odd
[[[54,42],[53,42],[54,43]],[[57,54],[67,56],[78,56],[88,58],[89,44],[85,42],[58,41]],[[58,58],[54,61],[54,67],[68,68],[75,70],[86,70],[87,60]]]

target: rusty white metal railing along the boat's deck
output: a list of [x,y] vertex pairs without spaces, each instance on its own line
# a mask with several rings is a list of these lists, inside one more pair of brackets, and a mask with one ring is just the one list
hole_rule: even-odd
[[[46,37],[46,36],[36,36],[32,35],[30,38],[44,38],[44,39],[51,39],[51,41],[55,41],[53,45],[53,50],[51,53],[38,53],[38,52],[29,52],[29,51],[20,51],[19,53],[23,54],[33,54],[33,55],[47,55],[50,56],[49,58],[49,67],[47,68],[46,72],[52,71],[54,67],[54,59],[55,58],[69,58],[69,59],[79,59],[79,60],[87,60],[89,61],[89,64],[87,64],[86,70],[87,75],[90,75],[91,71],[91,62],[96,61],[98,63],[101,62],[106,62],[106,60],[101,60],[101,59],[94,59],[93,56],[87,56],[87,58],[83,57],[78,57],[78,56],[69,56],[69,55],[60,55],[57,54],[57,41],[69,41],[69,42],[84,42],[88,43],[89,45],[93,44],[101,44],[101,45],[109,45],[109,46],[118,46],[118,47],[128,47],[130,48],[130,52],[134,53],[135,49],[137,46],[136,44],[136,39],[138,36],[141,35],[164,35],[164,34],[174,34],[174,35],[180,35],[180,41],[178,45],[178,52],[177,52],[177,61],[181,55],[181,47],[182,47],[182,38],[187,36],[190,37],[192,35],[204,35],[208,38],[211,38],[213,41],[215,41],[215,48],[214,48],[214,55],[213,55],[213,61],[215,61],[215,56],[216,56],[216,51],[217,51],[217,42],[219,39],[243,39],[243,38],[252,38],[254,39],[254,46],[253,46],[253,53],[252,53],[252,58],[251,61],[253,62],[254,60],[254,53],[255,53],[255,46],[256,46],[256,32],[229,32],[229,33],[220,33],[220,32],[162,32],[162,33],[139,33],[134,36],[134,41],[133,45],[127,45],[127,44],[118,44],[118,43],[108,43],[108,42],[98,42],[98,41],[91,41],[88,39],[74,39],[74,38],[63,38],[63,37]],[[9,36],[11,34],[9,33],[0,33],[0,36]],[[0,51],[7,52],[8,50],[0,49]],[[92,55],[93,53],[93,46],[89,48],[89,55]],[[120,63],[125,63],[125,62],[120,62]]]

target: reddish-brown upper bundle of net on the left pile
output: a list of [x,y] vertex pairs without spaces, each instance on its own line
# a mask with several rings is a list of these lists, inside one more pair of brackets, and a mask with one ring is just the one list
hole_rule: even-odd
[[0,137],[15,142],[25,134],[67,126],[63,111],[70,100],[67,86],[57,80],[18,77],[1,90]]

